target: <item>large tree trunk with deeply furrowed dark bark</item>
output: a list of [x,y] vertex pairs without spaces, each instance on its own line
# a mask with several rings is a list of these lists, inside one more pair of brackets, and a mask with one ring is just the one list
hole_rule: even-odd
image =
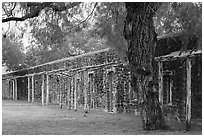
[[144,130],[166,128],[166,123],[155,92],[153,59],[156,33],[153,16],[159,3],[126,3],[127,17],[124,37],[128,42],[132,86],[137,92]]

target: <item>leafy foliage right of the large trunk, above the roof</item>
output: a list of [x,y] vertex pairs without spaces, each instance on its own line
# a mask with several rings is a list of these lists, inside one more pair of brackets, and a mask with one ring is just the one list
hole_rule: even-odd
[[188,43],[197,37],[198,47],[202,43],[202,3],[170,2],[163,3],[155,16],[155,28],[158,35],[183,32],[182,41]]

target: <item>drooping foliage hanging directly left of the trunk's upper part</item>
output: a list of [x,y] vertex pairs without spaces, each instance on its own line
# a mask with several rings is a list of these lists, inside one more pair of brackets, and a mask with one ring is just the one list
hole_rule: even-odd
[[101,3],[96,14],[95,31],[125,60],[127,43],[123,37],[126,16],[124,3]]

